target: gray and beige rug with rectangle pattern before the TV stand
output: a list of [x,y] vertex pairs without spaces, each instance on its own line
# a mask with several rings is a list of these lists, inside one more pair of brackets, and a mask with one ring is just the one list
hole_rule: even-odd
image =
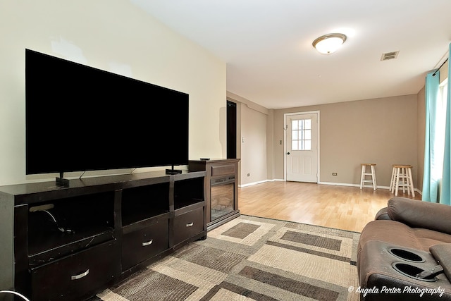
[[359,300],[359,235],[241,215],[96,299]]

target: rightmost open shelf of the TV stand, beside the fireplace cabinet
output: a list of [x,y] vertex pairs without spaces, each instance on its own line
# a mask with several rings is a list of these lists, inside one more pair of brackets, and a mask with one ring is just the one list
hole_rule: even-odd
[[204,177],[174,181],[174,209],[204,206]]

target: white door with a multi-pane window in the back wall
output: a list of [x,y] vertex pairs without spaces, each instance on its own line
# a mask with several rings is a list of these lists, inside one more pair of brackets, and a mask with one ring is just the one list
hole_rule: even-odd
[[286,180],[318,183],[318,113],[286,118]]

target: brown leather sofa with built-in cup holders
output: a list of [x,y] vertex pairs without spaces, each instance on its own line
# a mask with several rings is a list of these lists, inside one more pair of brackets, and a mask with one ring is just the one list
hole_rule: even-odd
[[361,300],[451,300],[451,206],[388,200],[360,235]]

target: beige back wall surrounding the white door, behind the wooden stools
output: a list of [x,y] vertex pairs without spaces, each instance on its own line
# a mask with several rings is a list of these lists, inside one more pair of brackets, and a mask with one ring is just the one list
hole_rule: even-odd
[[[417,96],[280,109],[274,112],[274,175],[283,179],[283,114],[320,112],[320,183],[359,185],[361,163],[376,163],[378,185],[390,185],[393,164],[418,172]],[[332,173],[338,176],[332,176]]]

